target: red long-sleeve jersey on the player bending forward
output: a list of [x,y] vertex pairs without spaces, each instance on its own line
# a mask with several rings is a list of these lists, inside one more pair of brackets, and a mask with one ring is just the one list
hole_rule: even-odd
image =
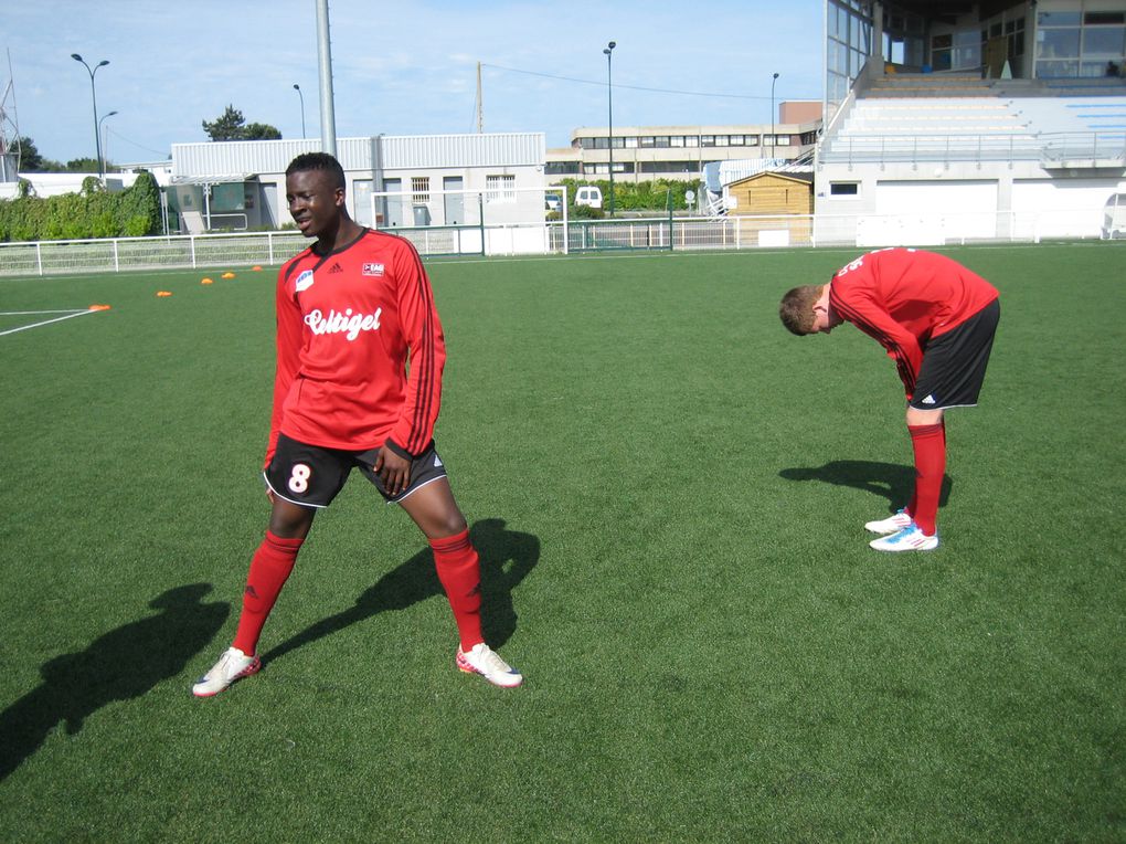
[[881,249],[841,267],[829,285],[837,316],[876,339],[914,392],[927,343],[982,310],[997,288],[944,255]]

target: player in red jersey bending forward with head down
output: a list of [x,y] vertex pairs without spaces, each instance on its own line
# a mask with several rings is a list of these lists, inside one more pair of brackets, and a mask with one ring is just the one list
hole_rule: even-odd
[[944,416],[977,403],[1001,316],[997,288],[945,256],[882,249],[846,265],[829,284],[794,287],[779,316],[796,335],[829,334],[851,322],[895,361],[906,390],[914,495],[893,516],[865,527],[886,534],[869,543],[877,551],[938,548]]

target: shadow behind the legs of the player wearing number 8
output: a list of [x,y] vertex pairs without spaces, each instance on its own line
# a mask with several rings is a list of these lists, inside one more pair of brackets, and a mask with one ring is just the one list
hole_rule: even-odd
[[[530,533],[504,530],[504,521],[500,518],[481,519],[470,528],[470,538],[481,557],[482,632],[491,646],[500,648],[516,632],[512,589],[539,561],[539,540]],[[427,548],[365,589],[352,606],[311,624],[262,654],[262,663],[382,612],[405,610],[435,596],[445,599],[445,595],[435,572],[434,556]]]

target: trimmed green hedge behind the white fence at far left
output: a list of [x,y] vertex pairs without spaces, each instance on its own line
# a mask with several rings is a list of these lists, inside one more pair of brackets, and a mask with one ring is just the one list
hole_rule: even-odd
[[160,187],[151,172],[132,187],[109,193],[93,176],[77,194],[0,201],[0,241],[137,238],[162,231]]

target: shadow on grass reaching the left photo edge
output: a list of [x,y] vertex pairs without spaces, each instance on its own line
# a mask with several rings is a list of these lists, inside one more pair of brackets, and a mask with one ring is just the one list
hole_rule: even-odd
[[114,701],[148,693],[178,676],[223,627],[231,605],[204,604],[211,584],[180,586],[153,598],[160,610],[98,637],[86,650],[65,654],[39,668],[43,683],[0,712],[0,781],[65,723],[68,735]]

